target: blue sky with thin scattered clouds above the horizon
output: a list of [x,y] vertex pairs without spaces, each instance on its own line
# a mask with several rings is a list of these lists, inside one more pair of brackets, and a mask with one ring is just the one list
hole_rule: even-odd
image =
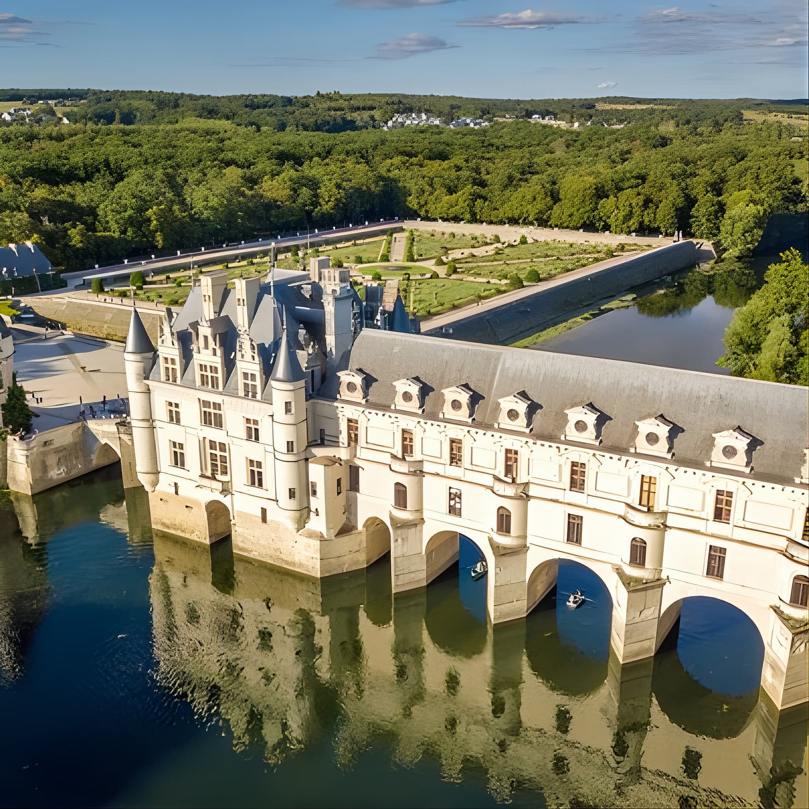
[[807,95],[806,0],[683,2],[0,0],[0,85]]

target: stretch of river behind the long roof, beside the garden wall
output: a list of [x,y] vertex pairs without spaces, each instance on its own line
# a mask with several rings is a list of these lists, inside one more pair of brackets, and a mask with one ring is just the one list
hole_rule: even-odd
[[532,348],[727,374],[716,365],[725,351],[725,329],[735,308],[747,303],[767,267],[778,260],[777,255],[756,256],[726,262],[730,269],[714,274],[678,273],[671,283],[635,290],[635,306],[608,311]]

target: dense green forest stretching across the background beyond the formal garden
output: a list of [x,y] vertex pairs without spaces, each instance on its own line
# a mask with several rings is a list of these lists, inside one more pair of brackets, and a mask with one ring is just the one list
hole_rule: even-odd
[[[744,255],[770,214],[807,211],[806,107],[798,102],[0,96],[82,100],[65,110],[74,123],[0,126],[0,243],[35,239],[68,269],[392,216],[681,230]],[[779,114],[745,120],[754,105]],[[517,120],[375,128],[411,110]],[[519,120],[545,113],[582,125]],[[615,116],[626,125],[610,128]]]

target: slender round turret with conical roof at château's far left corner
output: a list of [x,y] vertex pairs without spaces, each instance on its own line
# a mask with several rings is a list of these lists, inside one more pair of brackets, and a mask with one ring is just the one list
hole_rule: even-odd
[[133,309],[124,348],[126,387],[129,389],[135,469],[138,481],[150,492],[155,491],[159,477],[151,392],[146,382],[154,362],[155,346],[146,333],[138,310]]

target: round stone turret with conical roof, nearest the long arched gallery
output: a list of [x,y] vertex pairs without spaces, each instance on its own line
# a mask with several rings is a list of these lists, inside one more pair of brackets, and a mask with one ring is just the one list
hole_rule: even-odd
[[308,511],[306,375],[286,324],[269,378],[273,392],[273,450],[278,507],[292,527],[303,527]]

